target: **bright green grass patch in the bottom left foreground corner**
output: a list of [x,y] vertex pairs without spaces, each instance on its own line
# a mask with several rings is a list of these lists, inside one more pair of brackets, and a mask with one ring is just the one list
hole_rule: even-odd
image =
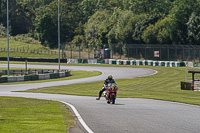
[[66,133],[74,124],[70,110],[60,102],[0,97],[2,133]]

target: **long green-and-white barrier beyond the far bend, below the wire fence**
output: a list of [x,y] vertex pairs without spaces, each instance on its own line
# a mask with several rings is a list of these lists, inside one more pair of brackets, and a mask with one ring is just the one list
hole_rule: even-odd
[[152,61],[152,60],[119,60],[119,59],[68,59],[67,63],[87,63],[87,64],[117,64],[117,65],[146,65],[163,67],[183,67],[184,61]]

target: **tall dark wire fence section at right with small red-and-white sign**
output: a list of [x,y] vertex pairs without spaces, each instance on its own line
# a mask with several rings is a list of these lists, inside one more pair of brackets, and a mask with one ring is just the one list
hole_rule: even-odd
[[151,60],[200,60],[198,45],[127,45],[128,56]]

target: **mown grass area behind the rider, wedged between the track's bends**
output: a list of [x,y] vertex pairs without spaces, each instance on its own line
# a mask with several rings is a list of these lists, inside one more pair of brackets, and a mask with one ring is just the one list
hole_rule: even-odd
[[[133,79],[117,79],[116,83],[119,87],[118,97],[148,98],[200,105],[200,92],[180,89],[180,81],[184,81],[185,79],[185,67],[169,68],[140,66],[140,68],[141,67],[157,70],[158,73],[152,76]],[[28,92],[97,96],[102,86],[103,81],[98,81],[28,90]]]

